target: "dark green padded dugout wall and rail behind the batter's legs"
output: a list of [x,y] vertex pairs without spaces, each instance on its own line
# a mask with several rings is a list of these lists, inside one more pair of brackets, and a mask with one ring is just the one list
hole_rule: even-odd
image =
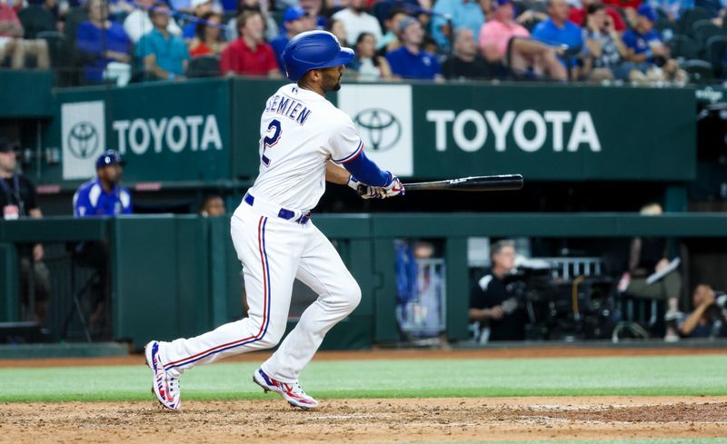
[[[395,239],[443,242],[447,336],[468,336],[467,238],[725,238],[727,214],[648,217],[598,214],[341,214],[315,215],[359,282],[359,308],[329,334],[328,348],[366,348],[398,340],[395,320]],[[193,336],[243,316],[240,262],[229,219],[189,216],[52,217],[0,223],[0,321],[17,321],[15,245],[33,242],[108,242],[111,251],[115,339],[136,347],[149,338]],[[15,282],[15,283],[14,283]],[[291,324],[294,320],[291,320]]]

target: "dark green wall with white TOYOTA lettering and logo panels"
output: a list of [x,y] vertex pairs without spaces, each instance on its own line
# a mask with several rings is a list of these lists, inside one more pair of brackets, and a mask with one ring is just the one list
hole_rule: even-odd
[[[50,105],[43,102],[52,110],[45,155],[31,168],[40,171],[38,183],[73,189],[95,173],[95,157],[113,148],[128,161],[124,175],[132,185],[248,184],[259,167],[260,114],[281,84],[225,78],[57,90]],[[718,93],[344,84],[329,98],[352,117],[373,160],[403,177],[687,182],[696,174],[697,94],[704,100]],[[283,101],[276,106],[299,111]]]

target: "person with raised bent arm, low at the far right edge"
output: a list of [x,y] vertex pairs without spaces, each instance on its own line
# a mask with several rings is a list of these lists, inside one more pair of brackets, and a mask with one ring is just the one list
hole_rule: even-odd
[[679,333],[686,338],[714,338],[727,336],[727,295],[712,290],[709,285],[698,285],[692,295],[694,311],[679,322]]

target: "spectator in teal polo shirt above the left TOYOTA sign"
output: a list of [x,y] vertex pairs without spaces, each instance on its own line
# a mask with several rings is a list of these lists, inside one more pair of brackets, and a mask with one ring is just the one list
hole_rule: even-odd
[[136,56],[144,61],[144,71],[153,80],[184,80],[189,52],[182,37],[169,33],[169,6],[158,2],[149,9],[154,30],[136,45]]

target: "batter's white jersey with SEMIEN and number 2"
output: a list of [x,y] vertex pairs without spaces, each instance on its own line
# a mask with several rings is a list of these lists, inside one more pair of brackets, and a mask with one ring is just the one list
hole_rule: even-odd
[[260,174],[250,193],[284,208],[312,210],[325,191],[325,163],[364,148],[354,122],[320,94],[286,84],[260,119]]

